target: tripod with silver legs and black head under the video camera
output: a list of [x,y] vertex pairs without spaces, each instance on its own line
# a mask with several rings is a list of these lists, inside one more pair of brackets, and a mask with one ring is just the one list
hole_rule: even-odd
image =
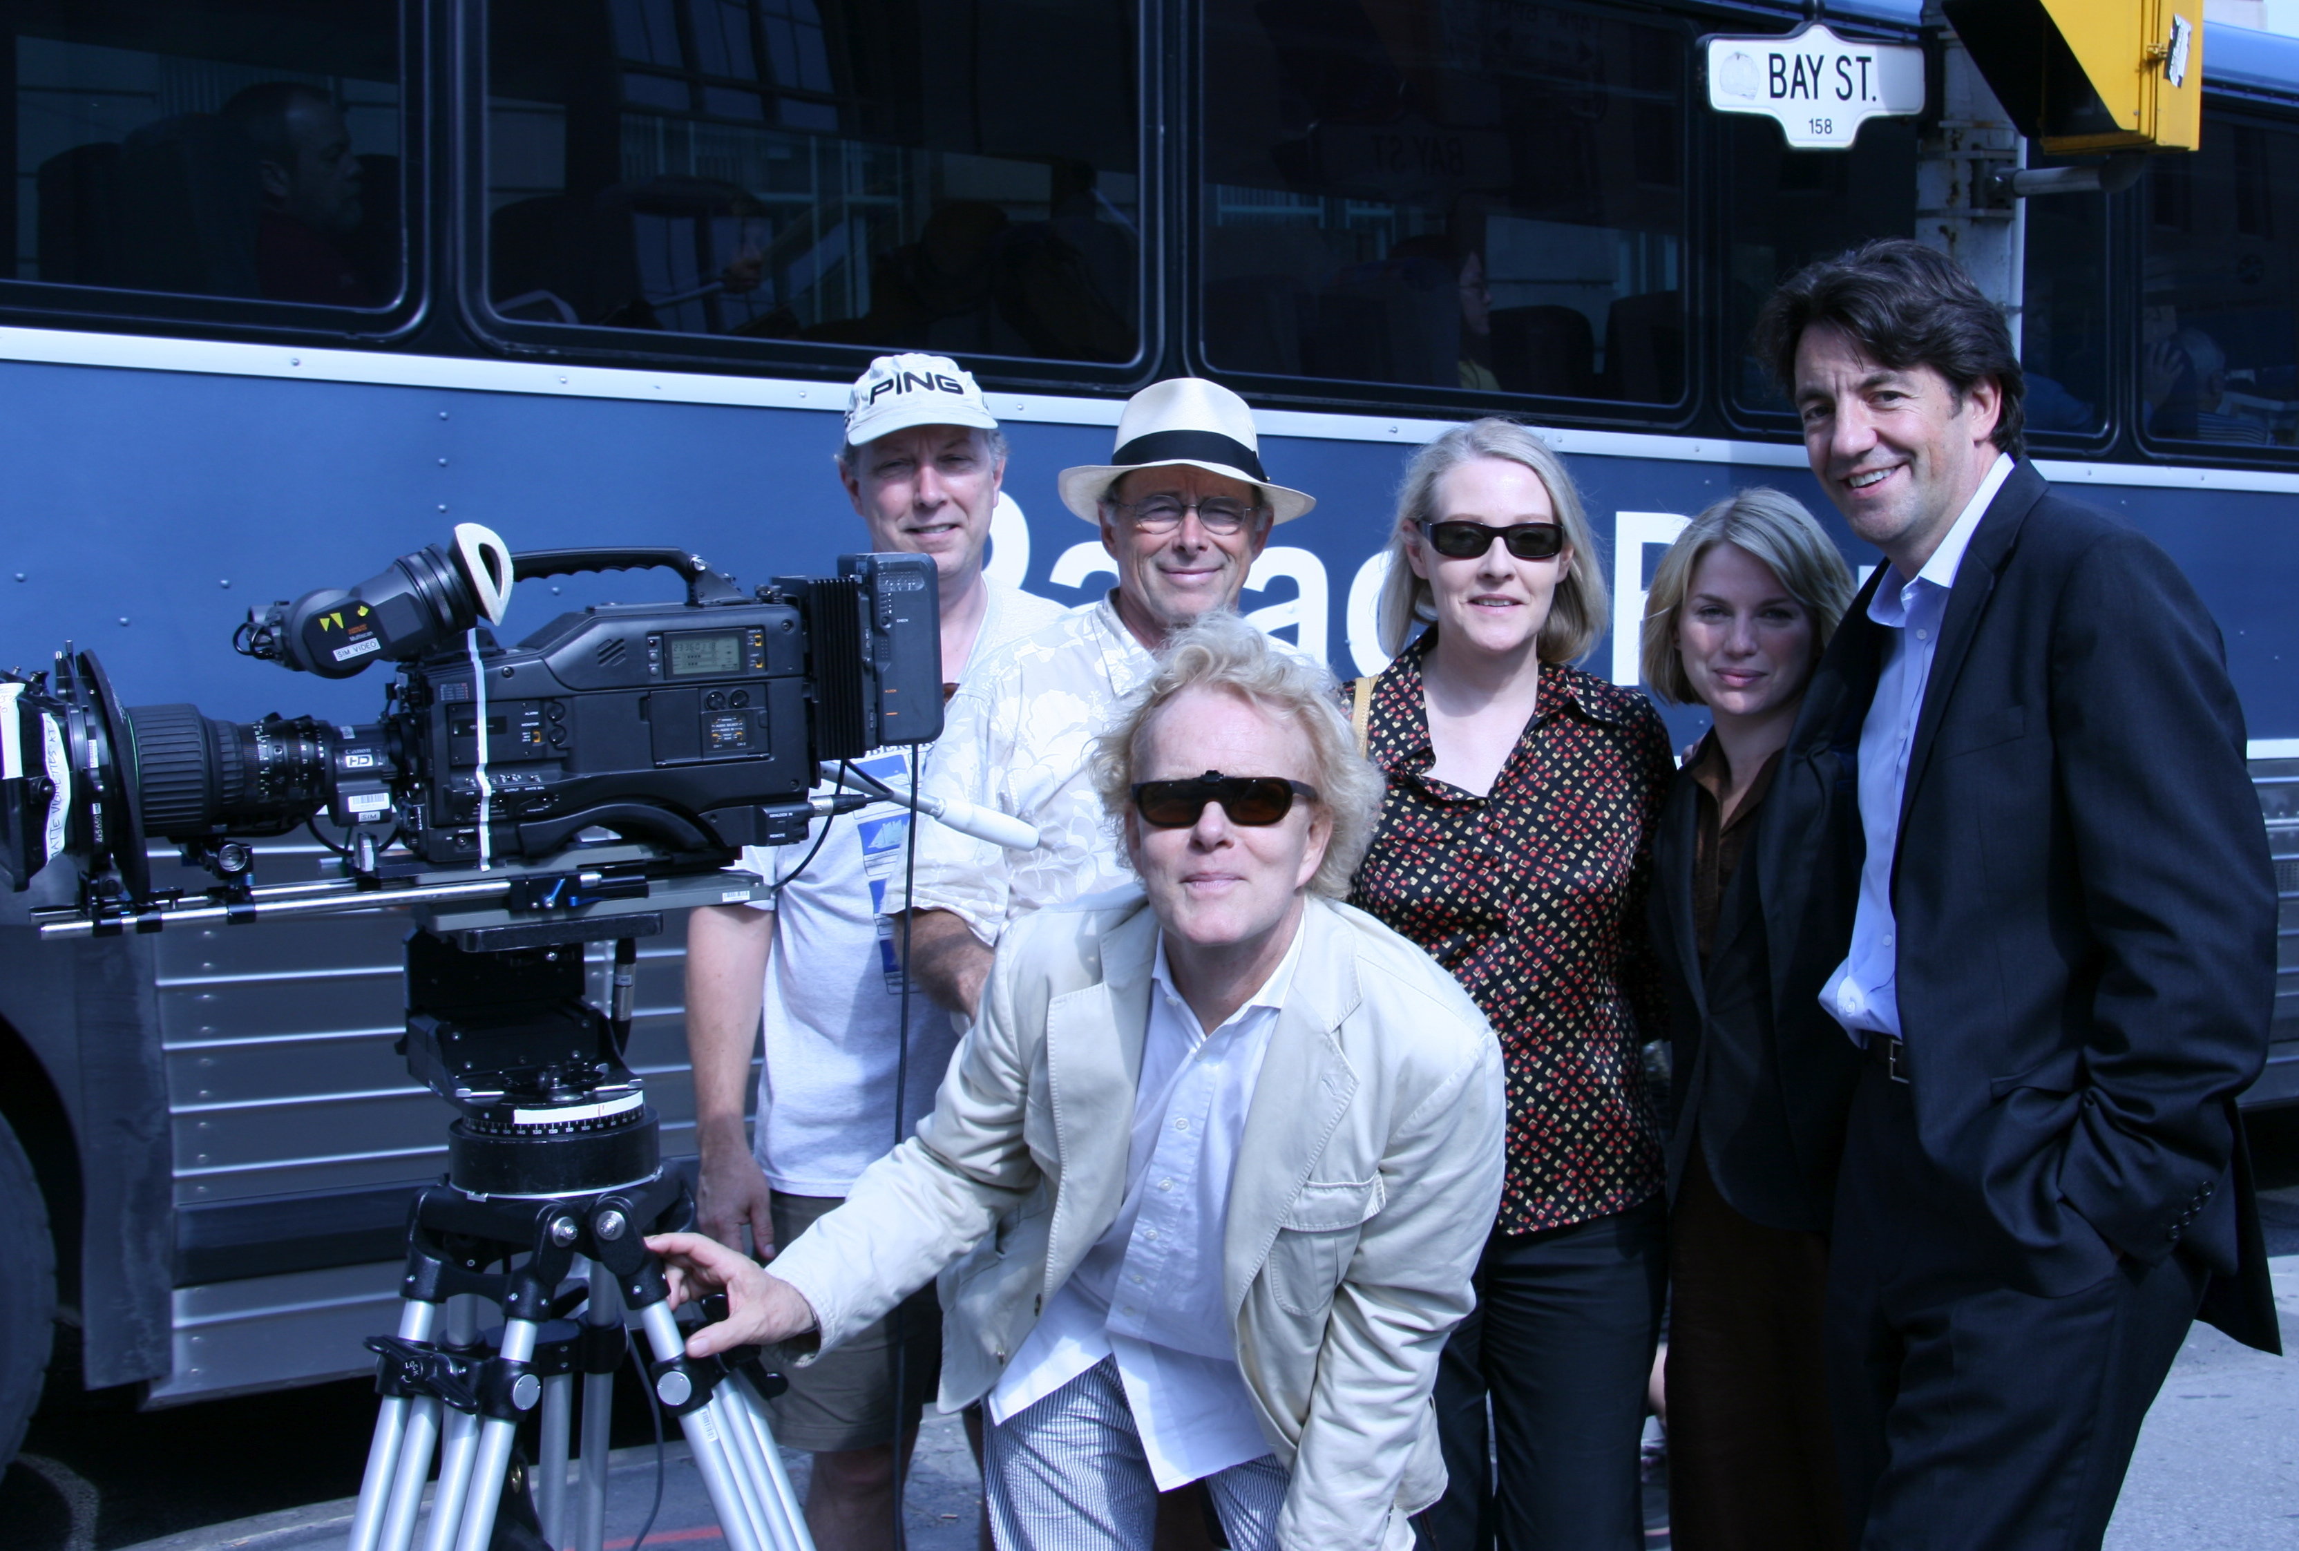
[[[398,1333],[368,1342],[382,1406],[349,1551],[602,1551],[625,1317],[646,1337],[646,1381],[687,1436],[729,1551],[814,1551],[766,1420],[779,1379],[754,1353],[687,1358],[662,1264],[644,1243],[694,1216],[685,1181],[662,1170],[655,1114],[621,1059],[635,937],[653,931],[660,917],[625,915],[453,933],[474,947],[430,931],[407,940],[409,1066],[462,1119],[448,1131],[446,1183],[425,1186],[409,1209]],[[609,933],[612,1018],[582,1000],[584,954],[568,942]],[[577,1268],[582,1282],[568,1287]],[[503,1314],[492,1340],[480,1333],[487,1303]],[[577,1310],[582,1319],[568,1319]],[[577,1374],[582,1484],[570,1523]],[[529,1491],[513,1445],[536,1411]],[[435,1452],[439,1482],[418,1542]]]

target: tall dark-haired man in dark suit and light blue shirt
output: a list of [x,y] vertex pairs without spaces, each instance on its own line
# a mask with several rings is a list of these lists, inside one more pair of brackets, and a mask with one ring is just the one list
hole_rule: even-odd
[[1887,561],[1789,749],[1837,754],[1864,839],[1821,993],[1869,1057],[1828,1289],[1853,1535],[2097,1546],[2198,1307],[2278,1349],[2235,1112],[2276,933],[2242,710],[2170,558],[2019,462],[2019,354],[1952,260],[1814,264],[1759,347]]

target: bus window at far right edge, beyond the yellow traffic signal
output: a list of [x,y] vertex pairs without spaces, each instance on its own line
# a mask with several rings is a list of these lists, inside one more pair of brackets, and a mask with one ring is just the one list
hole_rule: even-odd
[[2145,177],[2140,411],[2154,441],[2288,448],[2299,432],[2299,131],[2205,110]]

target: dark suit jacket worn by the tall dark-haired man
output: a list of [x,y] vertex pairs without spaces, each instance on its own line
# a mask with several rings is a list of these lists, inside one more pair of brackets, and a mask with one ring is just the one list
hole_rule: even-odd
[[[1858,744],[1881,574],[1814,673],[1807,742]],[[2060,1296],[2117,1250],[2179,1250],[2214,1273],[2205,1317],[2274,1351],[2235,1110],[2276,963],[2242,708],[2170,558],[2028,464],[1947,600],[1892,910],[1920,1144],[1970,1193],[1975,1264]]]

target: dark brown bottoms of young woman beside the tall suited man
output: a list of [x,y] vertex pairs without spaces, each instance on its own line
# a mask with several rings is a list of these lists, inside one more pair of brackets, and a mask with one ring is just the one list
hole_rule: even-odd
[[1828,1239],[1743,1218],[1692,1137],[1669,1211],[1669,1544],[1841,1551]]

